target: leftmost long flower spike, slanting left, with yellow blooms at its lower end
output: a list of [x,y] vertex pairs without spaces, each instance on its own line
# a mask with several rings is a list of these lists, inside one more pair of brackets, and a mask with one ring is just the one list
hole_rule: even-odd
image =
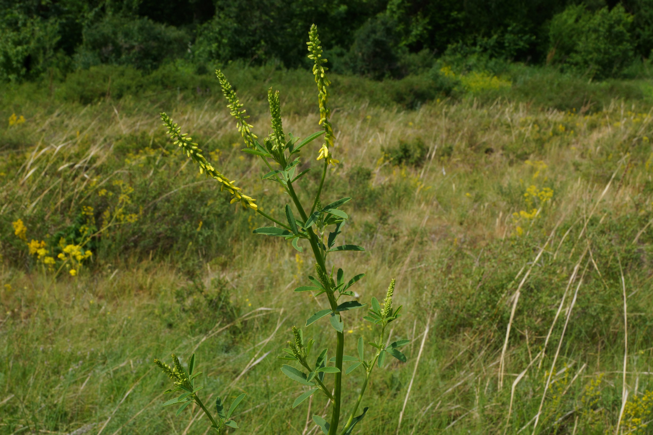
[[[234,94],[235,95],[235,94]],[[225,175],[217,172],[215,168],[204,158],[202,155],[202,150],[199,149],[197,143],[191,142],[193,138],[188,137],[187,133],[181,133],[181,127],[178,127],[177,124],[172,123],[172,119],[165,113],[161,113],[161,119],[163,120],[163,125],[168,128],[168,134],[174,140],[176,145],[182,147],[183,152],[200,166],[200,173],[206,172],[206,175],[217,180],[220,183],[220,190],[227,188],[227,191],[232,194],[233,198],[231,203],[240,202],[244,207],[249,207],[256,210],[258,206],[254,203],[256,200],[240,193],[240,188],[234,185],[235,181],[229,181]]]

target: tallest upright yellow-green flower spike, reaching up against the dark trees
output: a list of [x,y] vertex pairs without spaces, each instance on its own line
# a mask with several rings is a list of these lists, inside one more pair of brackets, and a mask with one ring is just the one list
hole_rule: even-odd
[[313,65],[313,76],[315,76],[315,83],[317,83],[317,103],[320,106],[320,121],[318,124],[324,125],[325,129],[325,143],[323,143],[322,147],[320,148],[319,154],[317,155],[317,160],[325,158],[327,160],[327,164],[336,164],[340,162],[331,157],[332,153],[330,153],[328,149],[329,147],[333,147],[334,141],[333,128],[331,127],[331,123],[329,121],[331,111],[327,106],[327,86],[330,85],[331,82],[325,76],[325,71],[328,70],[328,68],[322,66],[323,63],[327,63],[327,59],[322,58],[322,46],[320,45],[320,40],[317,35],[317,26],[315,24],[311,25],[311,30],[308,33],[308,39],[309,42],[306,42],[306,44],[308,44],[308,51],[310,52],[308,58],[315,62],[315,65]]

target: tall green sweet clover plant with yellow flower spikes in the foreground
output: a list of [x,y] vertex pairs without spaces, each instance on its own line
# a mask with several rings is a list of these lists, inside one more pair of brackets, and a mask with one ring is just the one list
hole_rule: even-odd
[[[308,282],[296,288],[295,292],[312,292],[315,297],[323,295],[327,299],[328,308],[315,312],[306,320],[305,325],[309,327],[315,322],[324,322],[328,319],[328,323],[330,323],[336,335],[335,356],[329,358],[328,349],[323,349],[318,352],[317,357],[311,356],[315,340],[305,338],[304,331],[294,326],[292,330],[293,339],[288,342],[288,347],[283,349],[283,355],[279,357],[288,361],[288,364],[281,366],[281,372],[300,383],[300,385],[304,385],[302,393],[298,395],[293,403],[293,408],[296,408],[304,400],[319,392],[328,401],[327,403],[330,406],[331,412],[329,421],[326,421],[319,415],[313,415],[315,424],[327,435],[349,435],[368,411],[368,408],[365,407],[359,412],[359,408],[374,368],[383,367],[387,355],[395,357],[399,361],[406,362],[406,355],[399,348],[406,345],[409,340],[388,342],[387,326],[390,322],[400,317],[399,313],[402,309],[401,306],[393,307],[392,298],[395,288],[395,281],[393,279],[385,293],[383,302],[379,303],[375,297],[372,297],[370,306],[368,306],[367,315],[362,317],[366,322],[370,322],[370,329],[373,326],[378,329],[377,340],[369,343],[372,346],[372,352],[368,352],[366,357],[364,339],[363,337],[359,337],[356,346],[357,355],[344,355],[345,331],[347,331],[348,337],[350,337],[350,334],[353,334],[351,327],[345,329],[345,321],[353,322],[354,324],[358,321],[358,319],[351,316],[345,318],[345,314],[349,314],[351,310],[366,307],[366,304],[353,299],[355,293],[350,289],[365,274],[359,273],[347,279],[345,278],[343,269],[336,269],[330,260],[332,255],[338,252],[347,250],[362,251],[364,249],[357,245],[336,245],[338,235],[342,233],[343,225],[349,218],[347,213],[340,207],[349,202],[351,198],[341,198],[340,200],[323,205],[324,198],[322,192],[325,187],[327,169],[329,165],[338,164],[338,160],[333,155],[334,132],[330,122],[331,112],[328,106],[328,85],[330,85],[330,82],[327,79],[327,68],[325,67],[327,59],[322,57],[323,50],[320,44],[317,27],[313,25],[309,32],[308,51],[310,54],[308,57],[314,63],[313,76],[317,84],[317,102],[320,114],[319,125],[322,126],[322,130],[311,134],[307,138],[304,138],[304,140],[300,140],[290,133],[286,135],[283,132],[279,93],[278,91],[272,91],[272,89],[268,91],[272,133],[263,140],[259,140],[259,137],[252,131],[253,126],[247,123],[248,116],[246,115],[246,110],[244,110],[243,104],[238,100],[236,92],[232,89],[226,76],[220,70],[215,72],[222,87],[223,94],[229,102],[227,108],[229,108],[231,115],[236,119],[236,127],[245,142],[246,148],[243,151],[260,157],[268,170],[263,175],[263,179],[278,183],[279,188],[291,198],[291,203],[285,205],[285,213],[281,218],[274,218],[264,213],[253,198],[243,194],[242,190],[236,187],[235,181],[230,181],[222,172],[215,169],[206,157],[204,157],[199,145],[192,142],[192,138],[186,133],[182,133],[181,127],[174,123],[166,113],[161,113],[161,119],[174,143],[182,148],[183,153],[187,157],[197,163],[200,173],[206,173],[208,177],[212,177],[220,183],[221,189],[226,189],[229,192],[231,203],[240,203],[244,208],[251,209],[255,213],[259,213],[259,215],[270,220],[273,224],[276,224],[275,226],[257,228],[253,230],[255,234],[283,237],[291,241],[293,247],[300,252],[304,248],[299,245],[300,242],[306,241],[310,245],[315,259],[315,277],[309,276]],[[324,161],[321,164],[322,174],[316,192],[306,192],[306,195],[302,195],[302,197],[308,196],[309,198],[313,198],[309,207],[306,207],[300,201],[300,196],[296,192],[295,183],[308,172],[308,169],[300,173],[295,172],[296,168],[299,167],[300,156],[302,151],[304,151],[304,147],[320,136],[324,136],[323,143],[316,153],[317,156],[314,154],[313,157],[316,160]],[[310,160],[313,160],[313,158]],[[193,385],[193,379],[197,376],[197,374],[193,374],[195,354],[191,356],[188,374],[183,371],[183,367],[174,355],[173,360],[174,368],[168,367],[158,359],[155,360],[155,364],[174,381],[175,388],[167,392],[182,391],[180,397],[168,400],[165,406],[180,404],[181,406],[177,412],[179,415],[185,407],[194,402],[206,413],[208,419],[210,419],[211,427],[215,432],[221,434],[224,433],[227,427],[236,427],[236,423],[230,418],[232,410],[240,403],[244,395],[236,398],[234,404],[229,409],[229,413],[224,412],[221,398],[218,397],[215,408],[211,412],[197,396],[199,389]],[[346,371],[343,371],[344,361],[349,364]],[[341,400],[343,376],[351,374],[359,367],[365,370],[365,378],[360,387],[360,394],[356,402],[349,408],[347,417],[343,418],[343,404]],[[344,423],[341,424],[343,421]]]

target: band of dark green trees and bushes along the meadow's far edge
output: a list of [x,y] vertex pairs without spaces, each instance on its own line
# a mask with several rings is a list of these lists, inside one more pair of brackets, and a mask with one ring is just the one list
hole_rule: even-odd
[[470,53],[632,76],[647,71],[637,66],[653,49],[653,0],[0,0],[0,11],[4,82],[100,64],[151,71],[174,59],[197,72],[236,60],[295,68],[298,29],[313,22],[336,72],[372,78]]

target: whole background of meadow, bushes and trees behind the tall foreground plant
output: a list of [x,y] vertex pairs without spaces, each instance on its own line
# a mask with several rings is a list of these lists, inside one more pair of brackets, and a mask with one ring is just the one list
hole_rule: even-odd
[[[151,361],[174,350],[197,352],[207,396],[247,393],[240,432],[315,434],[275,359],[317,308],[292,293],[313,265],[252,235],[259,218],[157,116],[280,211],[209,72],[226,66],[255,126],[279,89],[306,136],[311,22],[338,73],[325,196],[355,188],[357,291],[397,278],[391,334],[412,340],[371,385],[360,433],[526,433],[538,413],[541,434],[649,433],[650,2],[255,5],[2,4],[0,433],[203,434],[197,410],[160,406]],[[59,258],[109,223],[89,256]]]

